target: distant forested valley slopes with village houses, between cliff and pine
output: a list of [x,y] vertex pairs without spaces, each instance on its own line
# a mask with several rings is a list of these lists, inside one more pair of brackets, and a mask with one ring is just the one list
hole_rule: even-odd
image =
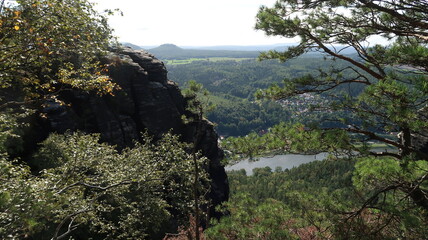
[[[355,57],[353,55],[350,55]],[[207,117],[217,126],[220,135],[243,136],[250,132],[266,131],[282,121],[304,121],[325,117],[323,112],[310,112],[312,106],[328,101],[328,95],[307,94],[286,101],[258,101],[255,93],[272,84],[281,85],[284,79],[318,75],[331,67],[331,61],[321,61],[322,55],[311,53],[286,63],[277,60],[198,60],[188,64],[167,64],[171,80],[186,87],[189,81],[202,84],[215,105]],[[343,61],[335,66],[346,67]],[[349,73],[352,74],[352,73]],[[352,84],[336,91],[356,95],[360,86]]]

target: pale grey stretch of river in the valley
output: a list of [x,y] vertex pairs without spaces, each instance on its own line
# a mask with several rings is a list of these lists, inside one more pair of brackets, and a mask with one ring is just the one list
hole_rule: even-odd
[[303,163],[323,160],[326,157],[327,153],[319,153],[316,155],[276,155],[273,157],[261,157],[258,161],[249,161],[248,159],[242,160],[234,165],[228,165],[225,168],[226,171],[245,169],[247,175],[252,175],[254,168],[270,167],[272,170],[275,170],[275,168],[281,167],[282,169],[290,169]]

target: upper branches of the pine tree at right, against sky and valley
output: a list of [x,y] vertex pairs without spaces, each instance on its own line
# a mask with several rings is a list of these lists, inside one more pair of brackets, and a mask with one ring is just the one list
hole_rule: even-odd
[[[302,93],[327,95],[329,104],[315,109],[333,112],[328,121],[342,122],[343,128],[360,140],[374,139],[402,147],[399,141],[390,142],[376,134],[403,129],[419,133],[427,127],[423,113],[427,68],[422,60],[427,56],[427,26],[420,23],[428,14],[424,8],[424,1],[413,4],[394,0],[284,0],[272,8],[262,7],[256,28],[271,35],[301,39],[295,48],[267,53],[262,58],[285,61],[315,49],[331,59],[332,65],[316,75],[286,79],[282,86],[273,85],[258,96],[283,99]],[[363,22],[368,24],[361,26]],[[364,42],[375,34],[396,38],[390,46],[364,47]],[[331,44],[336,46],[330,47]],[[343,54],[349,48],[358,56]],[[345,86],[358,91],[337,91]]]

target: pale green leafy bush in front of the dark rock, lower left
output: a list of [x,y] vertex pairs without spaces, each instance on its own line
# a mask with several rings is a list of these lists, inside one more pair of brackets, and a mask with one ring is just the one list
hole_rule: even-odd
[[98,135],[53,134],[34,157],[45,167],[38,176],[3,157],[0,236],[144,239],[172,214],[184,219],[194,178],[188,146],[170,134],[144,142],[119,153]]

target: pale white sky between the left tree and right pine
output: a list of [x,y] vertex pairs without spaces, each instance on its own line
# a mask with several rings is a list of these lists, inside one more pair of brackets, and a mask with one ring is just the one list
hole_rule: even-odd
[[264,45],[296,42],[254,30],[261,5],[276,0],[91,0],[97,10],[120,8],[111,17],[120,41],[137,45]]

